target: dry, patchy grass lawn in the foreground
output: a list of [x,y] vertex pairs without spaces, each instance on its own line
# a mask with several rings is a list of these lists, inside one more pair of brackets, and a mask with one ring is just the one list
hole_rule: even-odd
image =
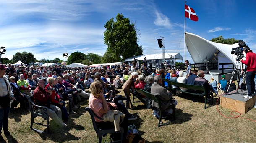
[[[123,92],[121,92],[123,95]],[[135,124],[141,136],[150,143],[255,143],[256,122],[243,118],[228,119],[220,115],[216,105],[204,109],[203,102],[175,96],[178,101],[176,120],[169,125],[157,127],[158,120],[152,116],[152,110],[146,109],[141,102],[134,103],[138,110],[129,110],[138,119],[129,121]],[[216,104],[217,97],[214,97]],[[138,101],[138,99],[136,99]],[[6,138],[9,143],[97,143],[98,138],[93,129],[89,113],[84,108],[88,106],[88,100],[78,103],[81,107],[76,110],[77,114],[70,115],[66,129],[50,121],[51,134],[41,134],[31,130],[31,115],[29,111],[20,112],[19,108],[10,113],[9,131],[11,136]],[[223,115],[232,117],[230,110],[220,108]],[[256,108],[242,117],[256,120]],[[38,118],[41,120],[41,118]],[[165,120],[163,120],[165,121]],[[38,129],[46,131],[46,127],[34,125]],[[108,141],[109,137],[103,138],[102,143]]]

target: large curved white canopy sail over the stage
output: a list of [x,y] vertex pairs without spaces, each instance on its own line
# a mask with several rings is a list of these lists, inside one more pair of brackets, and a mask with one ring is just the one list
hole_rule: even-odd
[[194,63],[205,63],[206,61],[216,62],[214,58],[216,57],[216,53],[217,55],[219,54],[217,50],[225,55],[233,64],[236,63],[236,58],[231,54],[231,50],[232,48],[238,47],[238,43],[233,45],[215,43],[188,32],[185,34],[185,42]]

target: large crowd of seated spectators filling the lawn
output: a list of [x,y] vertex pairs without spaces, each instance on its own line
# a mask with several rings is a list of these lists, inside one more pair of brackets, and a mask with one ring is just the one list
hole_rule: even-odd
[[[160,84],[160,82],[162,82],[160,78],[168,78],[169,80],[180,83],[198,84],[196,78],[202,77],[201,75],[198,76],[197,70],[193,70],[193,74],[186,78],[182,71],[175,71],[170,68],[166,69],[167,72],[165,72],[166,70],[164,69],[150,69],[149,66],[146,65],[143,65],[141,70],[139,69],[138,65],[134,62],[130,64],[106,65],[100,67],[63,67],[58,65],[27,67],[24,65],[8,65],[6,75],[9,76],[10,84],[13,84],[13,90],[17,90],[14,88],[18,88],[15,94],[17,102],[13,102],[14,108],[17,108],[17,103],[21,103],[21,108],[24,110],[27,107],[24,105],[25,102],[22,101],[26,99],[21,93],[31,96],[34,95],[34,102],[42,103],[42,105],[47,105],[47,98],[47,100],[52,101],[52,104],[50,106],[48,105],[52,110],[50,113],[51,118],[54,118],[55,122],[60,126],[66,126],[63,121],[66,122],[68,120],[68,114],[76,114],[76,110],[79,108],[78,102],[83,102],[81,97],[87,100],[90,96],[95,98],[93,100],[98,100],[97,102],[100,102],[101,105],[100,107],[96,107],[94,111],[96,113],[100,112],[100,116],[102,113],[106,113],[110,106],[112,109],[118,108],[122,110],[127,118],[130,117],[132,119],[135,117],[127,111],[127,109],[134,109],[130,99],[130,89],[132,89],[132,92],[134,88],[138,88],[156,94],[159,92],[159,86],[163,87],[163,83]],[[156,77],[155,80],[154,77]],[[78,84],[84,85],[82,91],[78,89]],[[152,85],[154,85],[153,91]],[[52,90],[48,91],[47,87],[52,87]],[[85,89],[88,88],[90,88],[92,94],[86,93]],[[122,97],[118,95],[120,91],[116,89],[122,89],[125,96]],[[166,88],[161,89],[166,90]],[[182,90],[187,89],[184,88]],[[214,90],[211,91],[215,92]],[[41,98],[37,92],[43,93],[45,97]],[[170,102],[170,99],[172,99],[171,93],[168,93],[166,90],[165,96],[166,103],[168,103],[166,105],[172,104],[172,102]],[[108,98],[113,104],[107,101],[104,102],[103,97],[104,100]],[[99,98],[101,100],[99,100]],[[209,97],[207,96],[207,98]],[[96,104],[90,100],[91,99],[89,99],[89,106],[90,108],[94,108]],[[125,100],[125,103],[123,103],[123,100]],[[148,108],[151,108],[152,101],[147,98],[146,100]],[[65,107],[65,101],[69,101],[67,106],[68,110],[63,108]],[[105,106],[106,108],[104,108]],[[157,107],[155,103],[153,106]],[[100,111],[102,108],[104,108],[104,112]],[[168,113],[171,114],[172,110],[168,110]]]

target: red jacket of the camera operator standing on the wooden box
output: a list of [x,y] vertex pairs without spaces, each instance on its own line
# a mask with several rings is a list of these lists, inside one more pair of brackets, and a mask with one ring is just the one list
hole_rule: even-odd
[[246,60],[241,60],[241,62],[247,65],[246,71],[256,71],[256,54],[253,53],[251,50],[249,50],[249,52],[246,53]]

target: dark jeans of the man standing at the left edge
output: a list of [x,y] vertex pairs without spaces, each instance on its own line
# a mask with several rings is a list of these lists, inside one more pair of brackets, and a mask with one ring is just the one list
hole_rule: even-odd
[[2,107],[0,109],[0,134],[2,128],[4,131],[8,131],[8,118],[9,118],[10,106]]

